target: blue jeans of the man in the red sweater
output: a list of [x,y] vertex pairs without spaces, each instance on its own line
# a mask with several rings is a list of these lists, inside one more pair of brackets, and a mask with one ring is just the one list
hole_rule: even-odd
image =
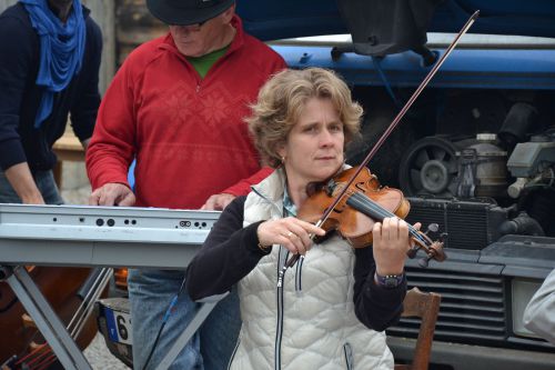
[[[154,247],[155,248],[155,247]],[[142,370],[162,324],[162,318],[183,281],[183,271],[130,269],[128,276],[133,327],[133,368]],[[154,369],[172,348],[199,304],[183,290],[149,361]],[[228,368],[241,329],[239,297],[233,290],[206,318],[170,369],[223,370]]]

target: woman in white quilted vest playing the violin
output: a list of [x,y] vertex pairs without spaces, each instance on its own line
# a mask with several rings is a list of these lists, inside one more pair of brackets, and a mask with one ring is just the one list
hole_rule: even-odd
[[254,142],[275,171],[222,212],[189,266],[191,298],[238,283],[243,324],[231,369],[393,369],[383,330],[402,311],[408,226],[386,218],[372,248],[353,249],[336,233],[314,244],[325,231],[295,218],[310,184],[346,168],[362,108],[319,68],[278,73],[252,108]]

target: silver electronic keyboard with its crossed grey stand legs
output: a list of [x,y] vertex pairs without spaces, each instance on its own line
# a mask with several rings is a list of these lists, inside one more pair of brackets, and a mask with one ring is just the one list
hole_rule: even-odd
[[[10,284],[64,369],[92,370],[26,264],[183,270],[220,212],[0,203],[0,280]],[[228,293],[200,301],[157,370],[165,370]],[[163,333],[162,333],[163,334]]]

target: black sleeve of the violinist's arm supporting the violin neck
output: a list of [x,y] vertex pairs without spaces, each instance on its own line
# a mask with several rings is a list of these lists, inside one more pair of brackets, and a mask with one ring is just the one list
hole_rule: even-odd
[[353,301],[356,317],[367,328],[383,331],[401,317],[406,278],[396,288],[383,288],[374,281],[376,267],[372,248],[357,248],[355,256]]

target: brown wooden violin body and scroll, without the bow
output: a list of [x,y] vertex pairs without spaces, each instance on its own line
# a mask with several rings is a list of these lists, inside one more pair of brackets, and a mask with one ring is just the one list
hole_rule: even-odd
[[[334,198],[347,184],[347,180],[359,168],[353,167],[340,172],[327,182],[317,186],[297,212],[297,217],[307,222],[317,222]],[[337,231],[354,248],[365,248],[372,243],[372,229],[376,221],[387,217],[404,219],[411,204],[398,189],[382,187],[377,177],[366,167],[361,169],[356,178],[349,184],[342,199],[330,212],[327,219],[320,226],[326,232]],[[437,231],[437,224],[432,224],[430,231]],[[445,260],[443,238],[433,241],[427,233],[408,226],[414,247],[407,251],[414,258],[418,250],[426,257],[420,261],[421,267],[427,267],[430,260]]]

